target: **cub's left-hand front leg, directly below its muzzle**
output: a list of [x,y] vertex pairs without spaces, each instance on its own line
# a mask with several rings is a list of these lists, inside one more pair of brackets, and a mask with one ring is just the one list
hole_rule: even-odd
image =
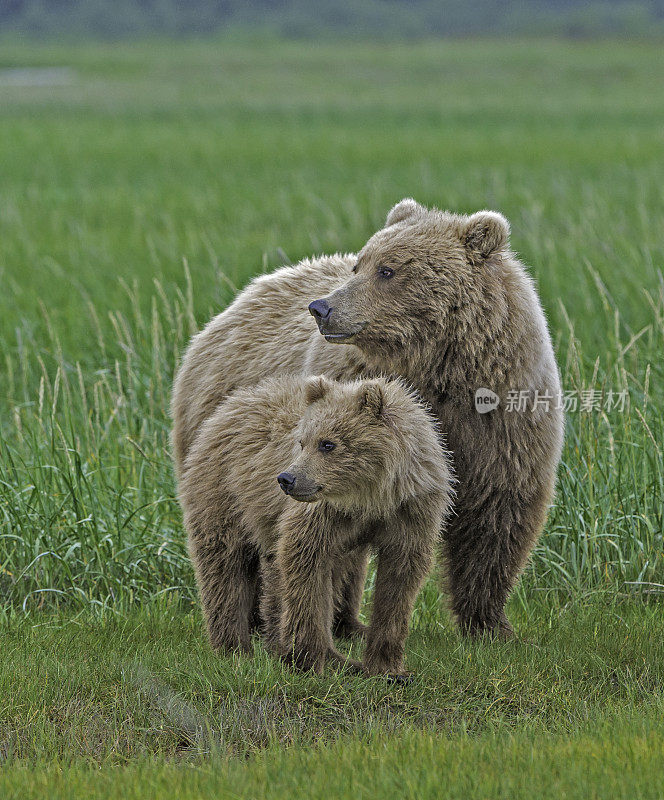
[[328,659],[360,669],[334,648],[332,570],[335,532],[320,505],[289,508],[279,523],[277,565],[281,586],[279,638],[283,657],[296,667],[321,673]]

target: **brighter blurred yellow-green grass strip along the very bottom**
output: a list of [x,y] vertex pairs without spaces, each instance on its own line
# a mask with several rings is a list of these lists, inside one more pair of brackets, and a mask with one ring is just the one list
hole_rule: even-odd
[[52,767],[38,776],[21,766],[0,776],[0,787],[10,800],[659,800],[664,792],[661,727],[654,716],[616,723],[607,716],[583,726],[572,739],[520,731],[449,742],[409,729],[398,738],[335,742],[326,748],[275,747],[250,764],[143,761],[103,772],[80,765]]

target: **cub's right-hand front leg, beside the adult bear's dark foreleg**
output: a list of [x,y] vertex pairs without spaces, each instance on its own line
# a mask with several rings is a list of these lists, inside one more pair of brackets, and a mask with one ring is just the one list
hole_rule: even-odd
[[437,534],[436,518],[409,509],[377,541],[378,569],[364,654],[369,675],[395,680],[409,675],[404,647],[415,599],[431,569]]

